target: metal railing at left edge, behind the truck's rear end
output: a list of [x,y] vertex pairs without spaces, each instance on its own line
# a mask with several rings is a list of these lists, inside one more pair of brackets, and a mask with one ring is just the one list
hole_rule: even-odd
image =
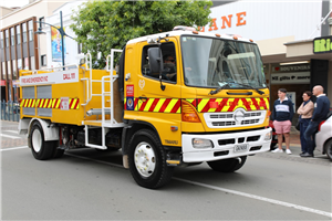
[[20,103],[0,101],[0,119],[19,122],[20,120]]

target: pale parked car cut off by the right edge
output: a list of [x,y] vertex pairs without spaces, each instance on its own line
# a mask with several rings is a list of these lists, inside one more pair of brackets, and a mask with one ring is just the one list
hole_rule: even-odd
[[328,155],[332,160],[332,110],[330,110],[326,120],[319,126],[315,135],[315,149]]

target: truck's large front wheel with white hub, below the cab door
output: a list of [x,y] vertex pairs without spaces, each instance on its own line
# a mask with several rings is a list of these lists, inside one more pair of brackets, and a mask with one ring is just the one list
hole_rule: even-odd
[[170,181],[174,171],[174,167],[166,164],[166,152],[157,135],[149,129],[138,130],[132,137],[128,164],[137,185],[149,189],[165,186]]

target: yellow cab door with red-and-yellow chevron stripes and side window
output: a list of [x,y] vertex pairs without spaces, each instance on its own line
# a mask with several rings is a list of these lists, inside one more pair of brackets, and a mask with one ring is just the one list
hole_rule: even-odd
[[[175,38],[160,44],[163,60],[166,56],[173,56],[175,60],[174,69],[170,71],[163,70],[162,84],[158,73],[151,73],[148,65],[148,49],[158,46],[156,44],[147,44],[142,42],[142,69],[138,77],[138,103],[139,120],[152,124],[159,134],[163,145],[177,146],[180,145],[180,119],[181,119],[181,101],[180,101],[180,76],[179,70],[180,56],[178,42]],[[169,65],[165,65],[169,67]],[[165,71],[165,72],[164,72]],[[167,78],[166,72],[175,72],[174,78]],[[165,86],[163,91],[162,85]],[[172,130],[175,126],[178,129]]]

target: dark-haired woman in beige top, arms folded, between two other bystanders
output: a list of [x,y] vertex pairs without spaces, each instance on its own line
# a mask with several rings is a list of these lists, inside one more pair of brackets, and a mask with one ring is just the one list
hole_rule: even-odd
[[305,91],[302,94],[303,103],[298,108],[299,114],[299,123],[300,123],[300,140],[301,140],[301,154],[308,152],[307,143],[304,139],[304,133],[307,130],[307,127],[311,120],[312,113],[313,113],[313,102],[310,99],[312,96],[312,93],[310,91]]

